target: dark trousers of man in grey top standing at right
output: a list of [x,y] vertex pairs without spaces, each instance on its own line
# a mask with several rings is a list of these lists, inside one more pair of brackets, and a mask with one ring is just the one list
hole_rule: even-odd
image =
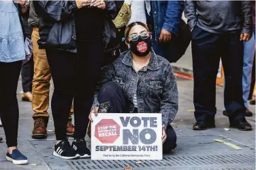
[[240,31],[223,35],[195,26],[192,33],[195,119],[217,112],[216,79],[221,58],[225,73],[224,104],[234,119],[244,118],[242,100],[243,42]]

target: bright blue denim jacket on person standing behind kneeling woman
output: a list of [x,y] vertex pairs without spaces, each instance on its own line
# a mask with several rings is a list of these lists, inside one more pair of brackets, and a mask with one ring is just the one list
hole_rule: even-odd
[[152,1],[155,39],[158,42],[162,28],[178,36],[184,1]]

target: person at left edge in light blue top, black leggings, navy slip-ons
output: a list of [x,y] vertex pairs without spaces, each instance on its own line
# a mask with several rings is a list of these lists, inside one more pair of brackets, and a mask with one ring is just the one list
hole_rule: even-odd
[[16,97],[22,60],[25,60],[20,14],[26,10],[27,1],[0,1],[0,88],[3,89],[0,117],[6,137],[6,159],[18,165],[28,163],[27,157],[17,148],[19,110]]

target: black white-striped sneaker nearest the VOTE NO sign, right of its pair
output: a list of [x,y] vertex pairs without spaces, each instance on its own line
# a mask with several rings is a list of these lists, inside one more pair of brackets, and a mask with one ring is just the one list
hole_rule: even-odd
[[80,154],[80,158],[91,157],[91,151],[86,147],[86,141],[84,139],[75,140],[72,143],[72,147]]

